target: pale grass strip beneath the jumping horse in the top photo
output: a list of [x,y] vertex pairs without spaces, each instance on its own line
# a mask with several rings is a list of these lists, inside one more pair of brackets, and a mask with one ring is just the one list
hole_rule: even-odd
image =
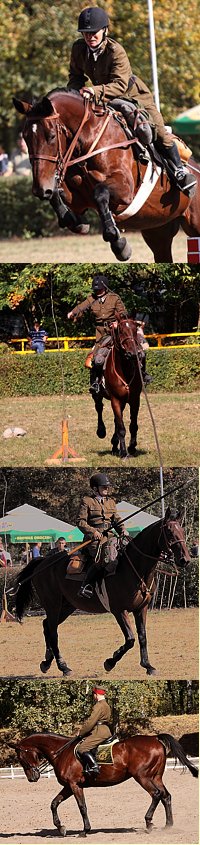
[[[163,230],[164,231],[164,230]],[[130,262],[151,264],[153,254],[146,246],[140,232],[127,233],[127,239],[132,247]],[[179,232],[174,239],[174,262],[187,261],[187,238],[184,232]],[[62,234],[53,238],[32,238],[21,240],[11,238],[0,242],[0,261],[2,262],[52,262],[68,263],[91,262],[116,263],[108,244],[104,243],[101,235]],[[118,262],[117,262],[118,263]]]

